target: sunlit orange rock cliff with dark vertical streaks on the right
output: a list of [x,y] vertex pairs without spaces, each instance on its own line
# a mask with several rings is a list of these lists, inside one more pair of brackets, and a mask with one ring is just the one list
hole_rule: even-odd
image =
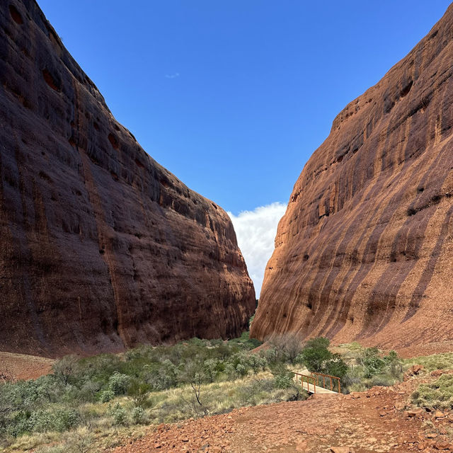
[[453,333],[453,7],[333,121],[280,221],[252,335]]

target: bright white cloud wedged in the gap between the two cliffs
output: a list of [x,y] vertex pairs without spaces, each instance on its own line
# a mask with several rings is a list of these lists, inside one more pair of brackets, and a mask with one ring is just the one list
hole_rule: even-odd
[[248,275],[255,285],[256,297],[260,296],[264,270],[274,251],[278,221],[285,214],[286,205],[280,202],[243,211],[239,215],[229,212],[239,248],[246,260]]

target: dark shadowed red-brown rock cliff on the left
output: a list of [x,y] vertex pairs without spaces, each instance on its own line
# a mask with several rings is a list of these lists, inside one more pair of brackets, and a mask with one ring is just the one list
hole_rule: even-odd
[[253,285],[224,210],[118,124],[33,0],[0,4],[0,350],[237,336]]

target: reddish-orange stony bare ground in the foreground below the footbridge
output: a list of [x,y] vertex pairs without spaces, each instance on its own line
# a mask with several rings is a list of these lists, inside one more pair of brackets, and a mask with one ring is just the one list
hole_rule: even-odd
[[393,387],[240,408],[224,415],[159,425],[114,452],[453,452],[453,415],[436,418],[439,413],[412,412],[408,406],[418,384],[433,379],[415,377]]

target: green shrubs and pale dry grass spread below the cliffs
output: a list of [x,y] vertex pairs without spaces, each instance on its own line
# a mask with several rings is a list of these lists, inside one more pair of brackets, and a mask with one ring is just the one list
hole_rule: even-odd
[[[0,451],[94,453],[160,423],[306,398],[289,369],[338,375],[349,393],[392,385],[415,362],[453,368],[453,354],[403,361],[359,343],[328,348],[323,338],[300,345],[285,336],[254,353],[257,345],[245,333],[229,342],[194,338],[120,355],[63,357],[52,374],[0,387]],[[429,408],[451,406],[453,377],[421,385],[412,398]]]

